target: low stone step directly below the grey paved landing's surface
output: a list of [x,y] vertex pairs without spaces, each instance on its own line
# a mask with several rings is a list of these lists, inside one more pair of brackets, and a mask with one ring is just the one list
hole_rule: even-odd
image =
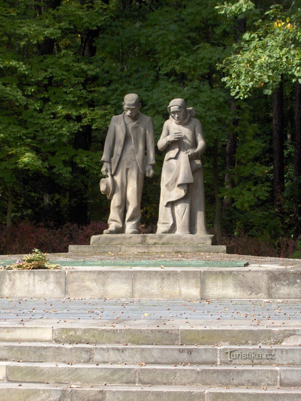
[[[93,321],[92,321],[93,322]],[[6,322],[5,322],[6,323]],[[59,323],[59,322],[56,322]],[[152,323],[150,321],[150,323]],[[155,322],[157,323],[157,322]],[[168,324],[167,324],[168,323]],[[84,320],[73,320],[69,324],[41,321],[39,324],[22,325],[18,323],[0,324],[0,341],[2,342],[60,342],[92,344],[140,344],[140,345],[256,345],[256,344],[291,344],[301,343],[299,320],[296,326],[201,326],[183,324],[177,320],[153,324],[147,327],[144,322],[127,322],[124,327],[113,323],[93,325]],[[173,323],[173,324],[171,324]],[[191,322],[189,322],[191,323]]]

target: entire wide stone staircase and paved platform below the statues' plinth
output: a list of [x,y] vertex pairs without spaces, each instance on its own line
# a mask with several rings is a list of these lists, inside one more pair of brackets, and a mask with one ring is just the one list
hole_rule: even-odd
[[0,270],[0,401],[301,401],[300,262],[52,256]]

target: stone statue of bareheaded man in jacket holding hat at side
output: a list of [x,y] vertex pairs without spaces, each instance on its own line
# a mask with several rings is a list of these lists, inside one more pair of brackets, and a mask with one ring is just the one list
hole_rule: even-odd
[[110,188],[104,193],[112,199],[109,228],[104,230],[104,234],[139,233],[144,174],[147,177],[154,174],[153,120],[139,111],[141,103],[135,93],[126,95],[122,105],[124,112],[114,115],[110,122],[101,160],[104,164],[102,173],[110,178],[106,182]]

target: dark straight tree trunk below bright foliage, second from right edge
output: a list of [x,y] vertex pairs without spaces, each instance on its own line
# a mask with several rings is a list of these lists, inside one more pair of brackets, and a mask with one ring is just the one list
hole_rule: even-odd
[[284,134],[283,134],[283,81],[273,92],[273,162],[274,162],[274,204],[280,212],[284,190]]

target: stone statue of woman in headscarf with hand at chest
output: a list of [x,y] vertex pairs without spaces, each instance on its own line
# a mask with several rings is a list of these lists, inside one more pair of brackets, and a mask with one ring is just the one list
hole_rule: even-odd
[[183,99],[167,107],[159,150],[167,149],[161,176],[157,233],[207,235],[201,155],[206,144],[195,110]]

